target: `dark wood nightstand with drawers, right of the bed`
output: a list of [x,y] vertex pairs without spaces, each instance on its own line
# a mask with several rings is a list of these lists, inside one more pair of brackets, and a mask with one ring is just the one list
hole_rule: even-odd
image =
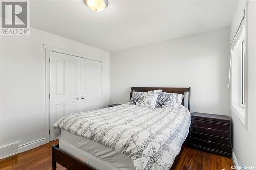
[[224,115],[192,113],[191,147],[206,152],[232,156],[231,119]]

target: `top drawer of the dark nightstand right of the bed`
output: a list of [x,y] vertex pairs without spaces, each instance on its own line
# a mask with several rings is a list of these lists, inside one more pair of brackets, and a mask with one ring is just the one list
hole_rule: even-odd
[[230,131],[230,125],[192,120],[192,126],[206,128],[208,130]]

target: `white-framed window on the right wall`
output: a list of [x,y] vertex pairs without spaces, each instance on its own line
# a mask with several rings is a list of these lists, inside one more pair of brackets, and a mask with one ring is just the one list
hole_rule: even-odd
[[231,44],[231,105],[242,123],[245,124],[246,104],[246,53],[244,20]]

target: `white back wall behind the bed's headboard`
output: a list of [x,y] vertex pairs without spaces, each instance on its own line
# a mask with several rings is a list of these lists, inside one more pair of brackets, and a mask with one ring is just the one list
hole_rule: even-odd
[[191,111],[230,114],[230,28],[110,53],[110,102],[131,86],[191,87]]

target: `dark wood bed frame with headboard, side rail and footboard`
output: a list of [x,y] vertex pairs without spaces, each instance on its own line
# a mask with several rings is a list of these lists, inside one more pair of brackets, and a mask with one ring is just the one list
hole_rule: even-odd
[[[167,93],[178,93],[185,95],[186,92],[188,92],[188,110],[190,111],[190,87],[188,88],[174,88],[174,87],[132,87],[130,92],[130,99],[132,98],[133,91],[142,91],[147,92],[150,90],[158,90],[162,89],[163,92]],[[184,105],[184,99],[182,100],[182,105]],[[182,144],[180,153],[175,157],[174,163],[172,167],[170,167],[170,170],[175,169],[176,165],[178,164],[180,160],[180,155],[184,149],[184,146],[186,144],[189,145],[189,136],[188,134],[186,140]],[[73,156],[61,151],[59,149],[59,145],[52,145],[52,169],[56,169],[56,163],[59,163],[63,167],[69,169],[69,170],[77,170],[77,169],[83,169],[83,170],[95,170],[94,168],[90,167],[89,165],[81,162],[80,160],[74,158]]]

